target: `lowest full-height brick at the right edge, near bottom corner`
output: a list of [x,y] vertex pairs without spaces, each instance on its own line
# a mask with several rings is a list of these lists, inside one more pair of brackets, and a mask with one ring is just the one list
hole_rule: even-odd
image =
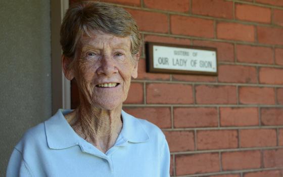
[[263,151],[264,167],[283,167],[283,149]]

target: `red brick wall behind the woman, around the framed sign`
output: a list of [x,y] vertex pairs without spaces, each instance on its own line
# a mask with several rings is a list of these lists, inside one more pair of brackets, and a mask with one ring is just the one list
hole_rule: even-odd
[[282,0],[105,0],[143,41],[215,47],[218,76],[146,73],[124,110],[163,129],[172,176],[283,176]]

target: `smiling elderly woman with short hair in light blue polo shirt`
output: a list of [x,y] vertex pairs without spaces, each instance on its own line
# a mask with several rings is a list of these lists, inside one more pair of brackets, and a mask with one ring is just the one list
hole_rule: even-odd
[[75,79],[80,104],[29,129],[7,176],[169,176],[162,131],[122,110],[137,76],[140,39],[124,9],[83,2],[61,27],[62,68]]

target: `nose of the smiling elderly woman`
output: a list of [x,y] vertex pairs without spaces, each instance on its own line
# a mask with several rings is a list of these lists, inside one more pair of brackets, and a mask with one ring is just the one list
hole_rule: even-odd
[[98,74],[111,76],[118,72],[116,62],[112,57],[102,56],[101,66],[97,70]]

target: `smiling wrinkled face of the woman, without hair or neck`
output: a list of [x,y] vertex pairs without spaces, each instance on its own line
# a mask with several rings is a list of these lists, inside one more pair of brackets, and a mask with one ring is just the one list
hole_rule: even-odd
[[75,77],[80,97],[92,106],[113,110],[126,100],[131,77],[137,76],[139,54],[134,57],[129,37],[103,32],[83,36],[69,79]]

